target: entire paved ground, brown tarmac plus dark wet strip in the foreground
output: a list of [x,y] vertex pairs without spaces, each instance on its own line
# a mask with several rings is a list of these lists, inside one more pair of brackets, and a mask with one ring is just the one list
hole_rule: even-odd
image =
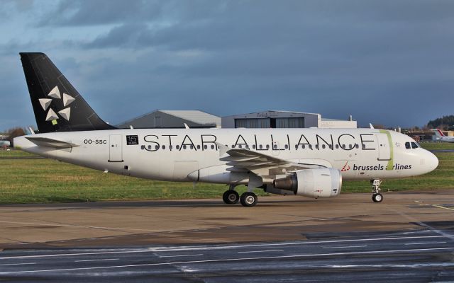
[[0,281],[454,282],[454,190],[0,207]]

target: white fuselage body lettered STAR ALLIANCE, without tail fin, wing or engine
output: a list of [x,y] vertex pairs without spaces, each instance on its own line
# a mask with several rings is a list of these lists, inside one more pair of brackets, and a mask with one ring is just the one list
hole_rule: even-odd
[[[75,144],[69,149],[37,146],[26,137]],[[232,176],[218,144],[248,149],[290,163],[337,168],[345,180],[404,178],[433,171],[438,159],[425,149],[406,149],[414,141],[380,129],[114,129],[54,132],[18,137],[23,151],[139,178],[191,181],[191,173],[221,174],[211,183],[248,183]],[[218,144],[216,144],[218,143]],[[266,182],[265,182],[266,183]]]

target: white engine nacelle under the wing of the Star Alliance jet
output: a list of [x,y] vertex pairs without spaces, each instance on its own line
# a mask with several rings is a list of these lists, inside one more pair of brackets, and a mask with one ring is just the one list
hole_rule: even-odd
[[333,168],[304,169],[293,172],[286,178],[274,181],[280,190],[289,190],[304,197],[336,197],[341,192],[341,171]]

